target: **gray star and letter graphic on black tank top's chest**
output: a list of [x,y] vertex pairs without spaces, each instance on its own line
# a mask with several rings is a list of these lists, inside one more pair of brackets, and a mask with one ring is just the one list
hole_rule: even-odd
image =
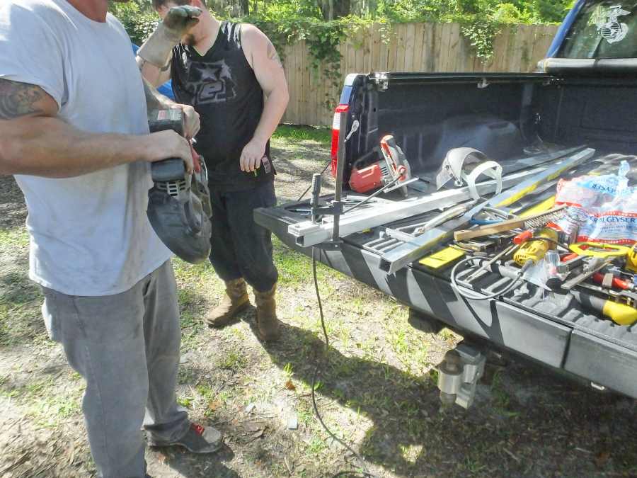
[[225,59],[212,63],[188,62],[184,52],[182,61],[188,72],[186,79],[195,105],[222,103],[236,98],[236,83]]

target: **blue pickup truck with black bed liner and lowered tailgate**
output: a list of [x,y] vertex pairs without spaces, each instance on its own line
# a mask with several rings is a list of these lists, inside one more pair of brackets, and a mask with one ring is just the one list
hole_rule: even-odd
[[[577,1],[535,73],[349,74],[335,111],[332,146],[333,169],[337,160],[344,165],[344,197],[354,197],[348,190],[352,167],[374,157],[385,135],[394,136],[413,177],[420,178],[408,186],[408,198],[431,194],[422,187],[425,180],[457,147],[478,149],[505,170],[520,158],[569,147],[592,148],[595,154],[563,177],[614,172],[624,159],[634,169],[635,2]],[[554,194],[555,182],[549,186]],[[546,197],[551,191],[539,193]],[[380,197],[406,200],[398,192]],[[331,198],[324,199],[329,204]],[[254,216],[287,246],[311,256],[313,248],[290,232],[309,219],[309,208],[303,200],[259,209]],[[338,244],[317,244],[317,256],[409,307],[414,326],[447,326],[466,339],[523,355],[597,389],[637,398],[637,327],[615,324],[582,307],[567,291],[546,293],[521,283],[499,297],[473,300],[452,286],[449,267],[431,268],[415,260],[390,273],[383,251],[369,244],[378,244],[388,227],[421,223],[436,214],[440,211],[343,234]],[[488,273],[474,294],[498,290],[502,279]]]

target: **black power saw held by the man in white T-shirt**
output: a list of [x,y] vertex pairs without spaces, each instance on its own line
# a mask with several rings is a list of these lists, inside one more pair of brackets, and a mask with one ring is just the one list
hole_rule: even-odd
[[[151,132],[175,130],[183,135],[181,110],[149,114]],[[210,256],[212,207],[205,162],[188,174],[181,159],[151,164],[154,186],[148,192],[148,219],[159,239],[186,262],[200,263]]]

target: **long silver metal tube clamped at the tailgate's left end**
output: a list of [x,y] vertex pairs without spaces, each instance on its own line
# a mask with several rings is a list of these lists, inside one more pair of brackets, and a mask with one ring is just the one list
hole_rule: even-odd
[[[505,176],[503,188],[512,188],[520,181],[537,173],[537,170],[522,171],[520,173]],[[496,181],[484,181],[476,185],[478,193],[485,195],[495,192]],[[346,237],[350,234],[365,231],[372,227],[378,227],[390,222],[406,219],[407,217],[423,214],[437,209],[444,209],[462,203],[471,199],[471,192],[468,187],[449,189],[438,191],[437,193],[428,194],[419,198],[409,198],[394,203],[380,204],[370,202],[369,205],[374,207],[366,207],[365,209],[352,211],[340,217],[340,237]],[[332,237],[332,218],[328,218],[323,222],[316,224],[311,221],[298,222],[290,224],[287,232],[296,237],[299,246],[309,247],[328,241]]]

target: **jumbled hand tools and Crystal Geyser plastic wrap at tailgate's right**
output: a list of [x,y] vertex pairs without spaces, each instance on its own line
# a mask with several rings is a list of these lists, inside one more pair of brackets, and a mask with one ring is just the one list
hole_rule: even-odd
[[[561,181],[556,196],[519,217],[455,230],[450,247],[466,257],[452,269],[452,285],[467,299],[488,300],[526,282],[546,294],[568,293],[583,309],[616,324],[634,324],[637,215],[630,204],[637,191],[625,176],[622,164],[618,175]],[[604,218],[612,218],[610,225],[598,224]],[[432,256],[420,263],[433,267]],[[490,274],[503,284],[495,292],[478,292],[476,284]]]

